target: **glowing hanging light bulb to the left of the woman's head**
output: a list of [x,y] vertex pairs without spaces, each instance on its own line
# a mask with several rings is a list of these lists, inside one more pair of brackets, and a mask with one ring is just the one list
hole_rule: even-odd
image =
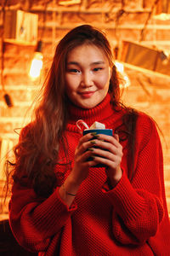
[[31,79],[37,79],[40,76],[41,70],[42,70],[42,53],[41,52],[35,52],[34,57],[31,61],[31,68],[29,75]]

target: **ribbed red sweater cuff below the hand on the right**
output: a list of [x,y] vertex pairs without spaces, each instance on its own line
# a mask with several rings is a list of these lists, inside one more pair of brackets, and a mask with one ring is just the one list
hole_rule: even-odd
[[122,172],[122,178],[115,188],[110,189],[104,185],[102,192],[109,198],[116,212],[124,218],[138,218],[145,209],[146,201],[133,189],[126,172]]

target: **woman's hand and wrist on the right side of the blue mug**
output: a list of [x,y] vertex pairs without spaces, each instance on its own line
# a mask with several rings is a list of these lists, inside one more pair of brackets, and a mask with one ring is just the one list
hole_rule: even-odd
[[92,144],[95,146],[91,148],[93,149],[94,161],[106,166],[106,175],[109,177],[112,186],[115,186],[122,177],[122,145],[119,143],[118,135],[114,134],[111,137],[99,134],[99,137],[94,137]]

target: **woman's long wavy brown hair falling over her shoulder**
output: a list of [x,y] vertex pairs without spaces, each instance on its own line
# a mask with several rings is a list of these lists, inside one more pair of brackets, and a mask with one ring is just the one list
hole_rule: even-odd
[[[71,49],[82,44],[94,44],[105,52],[112,67],[109,87],[112,105],[113,108],[120,106],[120,89],[111,45],[105,34],[93,26],[77,26],[57,45],[52,66],[43,84],[42,97],[35,109],[35,118],[22,130],[20,141],[14,148],[14,182],[20,182],[22,185],[28,185],[31,182],[38,195],[48,196],[56,186],[54,165],[59,152],[59,143],[64,144],[65,158],[67,155],[63,137],[67,123],[65,64]],[[40,159],[41,165],[38,164]]]

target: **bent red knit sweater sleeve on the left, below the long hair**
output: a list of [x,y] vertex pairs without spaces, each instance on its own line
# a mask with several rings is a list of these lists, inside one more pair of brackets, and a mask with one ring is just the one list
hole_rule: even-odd
[[75,202],[67,207],[59,197],[58,188],[46,200],[35,195],[33,189],[14,184],[9,202],[9,222],[16,240],[31,252],[45,251],[50,238],[58,236],[71,213]]

